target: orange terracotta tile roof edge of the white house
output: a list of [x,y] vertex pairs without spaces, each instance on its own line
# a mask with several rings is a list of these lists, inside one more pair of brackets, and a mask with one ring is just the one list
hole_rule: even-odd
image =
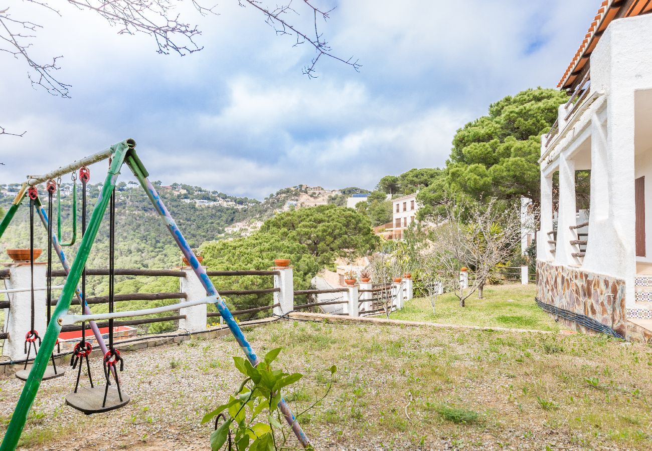
[[580,44],[580,48],[575,52],[571,64],[569,64],[563,77],[557,84],[558,88],[565,89],[570,87],[579,76],[582,68],[589,62],[591,52],[598,44],[602,33],[606,27],[617,18],[639,16],[652,12],[652,1],[649,0],[604,0],[602,5],[593,18],[591,26]]

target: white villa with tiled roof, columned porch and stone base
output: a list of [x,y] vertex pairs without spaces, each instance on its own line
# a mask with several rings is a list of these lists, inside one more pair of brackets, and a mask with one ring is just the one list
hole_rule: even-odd
[[[537,233],[539,305],[566,325],[644,342],[652,338],[649,12],[649,0],[603,1],[561,79],[571,97],[541,139]],[[582,212],[580,170],[591,171]]]

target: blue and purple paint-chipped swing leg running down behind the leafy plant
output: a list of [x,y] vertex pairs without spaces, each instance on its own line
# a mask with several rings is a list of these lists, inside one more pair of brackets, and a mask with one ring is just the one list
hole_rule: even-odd
[[[186,257],[186,260],[188,260],[188,263],[190,263],[190,267],[192,267],[192,270],[200,279],[201,285],[203,285],[203,287],[206,289],[207,295],[217,296],[217,302],[215,304],[217,306],[217,310],[220,311],[220,314],[222,315],[224,322],[231,330],[231,333],[235,337],[235,340],[243,349],[244,355],[246,355],[246,357],[249,359],[249,361],[253,366],[258,365],[260,360],[258,359],[258,356],[256,356],[256,353],[254,353],[254,349],[252,349],[249,342],[247,342],[246,338],[244,338],[243,331],[239,327],[238,323],[235,322],[235,319],[233,318],[233,315],[231,315],[231,312],[229,311],[229,308],[226,306],[226,303],[220,297],[219,293],[215,289],[215,285],[213,285],[213,282],[211,282],[211,279],[209,279],[209,276],[206,274],[206,270],[200,265],[199,260],[197,259],[195,254],[192,252],[192,249],[190,248],[190,244],[188,244],[186,239],[183,237],[181,230],[179,230],[179,227],[177,227],[177,223],[174,221],[170,212],[163,204],[163,201],[158,195],[158,192],[156,192],[154,186],[151,184],[149,179],[147,179],[148,174],[146,173],[145,168],[141,166],[140,160],[134,158],[134,152],[132,151],[130,154],[126,156],[125,162],[127,166],[130,167],[130,169],[132,170],[132,172],[134,173],[138,181],[140,181],[140,184],[145,190],[145,193],[147,193],[147,197],[149,197],[149,200],[151,200],[151,202],[153,203],[154,207],[156,208],[156,211],[158,212],[158,214],[160,214],[163,222],[165,222],[166,226],[168,227],[168,230],[170,231],[170,233],[174,237],[174,240],[177,242],[177,245],[181,249],[181,252],[183,252],[183,255]],[[297,439],[299,439],[299,441],[301,442],[301,445],[304,448],[308,448],[308,446],[310,446],[310,440],[308,440],[308,437],[306,437],[306,434],[304,433],[303,429],[301,429],[301,425],[299,424],[297,418],[295,418],[294,414],[290,410],[288,403],[286,403],[286,401],[281,398],[280,402],[278,403],[278,408],[283,413],[283,416],[285,416],[289,426],[292,428],[292,431],[297,436]]]

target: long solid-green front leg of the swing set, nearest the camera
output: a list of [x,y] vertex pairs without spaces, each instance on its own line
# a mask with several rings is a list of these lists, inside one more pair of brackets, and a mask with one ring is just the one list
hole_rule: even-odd
[[89,226],[83,236],[82,244],[80,244],[77,255],[72,262],[72,267],[70,268],[70,273],[66,279],[66,284],[63,286],[61,297],[59,297],[59,302],[57,302],[57,306],[52,314],[53,321],[50,321],[50,325],[48,325],[48,328],[46,329],[43,342],[38,349],[38,354],[34,359],[34,364],[29,371],[29,376],[27,377],[25,386],[23,386],[18,405],[16,405],[16,409],[14,409],[14,415],[11,417],[11,421],[7,427],[7,433],[5,433],[5,438],[0,445],[0,451],[15,450],[18,445],[18,439],[20,439],[20,434],[22,433],[23,428],[25,427],[25,422],[27,421],[27,414],[29,413],[29,409],[32,407],[34,398],[37,396],[38,387],[40,386],[43,374],[48,366],[48,360],[50,360],[50,355],[52,355],[52,351],[54,350],[54,345],[59,337],[59,332],[61,332],[59,321],[63,315],[68,313],[68,308],[70,307],[70,302],[75,294],[77,283],[79,282],[80,277],[82,277],[83,267],[86,264],[89,253],[91,252],[93,242],[95,241],[97,232],[100,229],[102,217],[104,216],[104,212],[109,203],[111,192],[113,191],[113,187],[115,187],[115,181],[120,172],[120,167],[125,161],[126,153],[135,145],[136,143],[134,143],[134,141],[125,140],[111,146],[111,149],[113,150],[113,160],[111,161],[111,167],[106,174],[106,180],[104,181],[104,186],[102,186],[102,192],[100,193],[100,197],[97,199],[97,203],[93,209],[93,214],[91,214]]

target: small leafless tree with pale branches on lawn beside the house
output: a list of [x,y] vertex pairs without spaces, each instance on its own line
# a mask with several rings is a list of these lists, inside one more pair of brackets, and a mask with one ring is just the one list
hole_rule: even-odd
[[[441,274],[464,307],[465,300],[482,289],[492,270],[511,259],[520,246],[520,209],[505,207],[497,199],[481,201],[446,201],[445,221],[430,237],[439,258]],[[469,268],[469,287],[460,283],[460,269]],[[472,277],[471,277],[472,276]]]

